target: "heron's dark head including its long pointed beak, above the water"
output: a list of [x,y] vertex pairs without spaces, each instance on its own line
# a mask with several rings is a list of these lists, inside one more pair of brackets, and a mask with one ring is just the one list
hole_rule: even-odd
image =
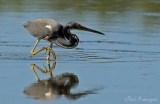
[[89,32],[94,32],[94,33],[97,33],[97,34],[105,35],[105,34],[102,33],[102,32],[99,32],[99,31],[96,31],[96,30],[87,28],[87,27],[85,27],[85,26],[82,26],[81,24],[79,24],[79,23],[77,23],[77,22],[69,22],[69,23],[67,23],[66,26],[68,26],[69,29],[84,30],[84,31],[89,31]]

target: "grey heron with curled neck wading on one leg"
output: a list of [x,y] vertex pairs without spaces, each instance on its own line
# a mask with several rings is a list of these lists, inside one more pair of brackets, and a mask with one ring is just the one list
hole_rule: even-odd
[[[65,26],[63,26],[59,22],[47,18],[37,19],[33,22],[28,21],[27,23],[24,23],[23,26],[29,31],[31,35],[38,38],[31,50],[31,54],[35,55],[42,50],[49,50],[47,60],[49,60],[50,58],[50,52],[52,53],[53,58],[56,58],[55,53],[52,50],[53,43],[62,48],[68,49],[74,48],[78,45],[79,38],[75,34],[72,34],[70,32],[71,29],[85,30],[104,35],[104,33],[102,32],[89,29],[76,22],[69,22]],[[44,46],[43,48],[35,51],[35,48],[41,39],[49,41],[51,43],[50,47]]]

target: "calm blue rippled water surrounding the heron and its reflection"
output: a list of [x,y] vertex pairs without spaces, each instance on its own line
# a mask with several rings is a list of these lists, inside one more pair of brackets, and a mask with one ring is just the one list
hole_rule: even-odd
[[[159,0],[0,0],[0,103],[159,104],[159,7]],[[81,96],[75,100],[55,94],[48,101],[23,93],[38,83],[31,65],[47,67],[43,52],[30,54],[36,38],[22,27],[38,18],[63,25],[76,21],[106,34],[73,30],[80,39],[75,49],[53,46],[53,76],[76,76],[77,87],[71,87],[71,93]],[[42,40],[37,49],[45,45],[49,43]],[[41,80],[50,78],[35,71]]]

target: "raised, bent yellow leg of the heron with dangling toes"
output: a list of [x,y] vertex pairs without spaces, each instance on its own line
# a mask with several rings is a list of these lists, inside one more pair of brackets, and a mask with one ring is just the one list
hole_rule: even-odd
[[[35,50],[37,44],[39,43],[39,41],[40,41],[40,39],[38,39],[38,40],[36,41],[35,45],[33,46],[32,50],[31,50],[31,54],[32,54],[32,55],[36,55],[37,53],[39,53],[39,52],[41,52],[41,51],[43,51],[43,50],[49,50],[49,52],[52,53],[53,58],[56,59],[56,56],[55,56],[54,51],[53,51],[50,47],[48,47],[48,46],[44,46],[44,47],[42,47],[41,49],[39,49],[38,51],[34,52],[34,50]],[[48,56],[47,56],[47,60],[49,60],[49,57],[48,57]]]

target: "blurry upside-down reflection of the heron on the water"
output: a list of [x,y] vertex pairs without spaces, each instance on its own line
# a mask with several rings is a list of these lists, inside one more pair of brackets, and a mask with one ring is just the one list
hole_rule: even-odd
[[[26,87],[24,94],[38,100],[56,100],[64,95],[69,100],[76,100],[87,94],[95,94],[98,89],[89,89],[78,93],[71,93],[71,88],[76,87],[79,83],[78,77],[73,73],[63,73],[54,77],[52,71],[56,66],[56,62],[53,62],[52,67],[48,64],[49,70],[45,67],[45,70],[39,68],[35,64],[31,65],[32,71],[37,79],[36,83]],[[49,74],[50,78],[46,80],[40,80],[35,69],[38,69],[44,74]]]

